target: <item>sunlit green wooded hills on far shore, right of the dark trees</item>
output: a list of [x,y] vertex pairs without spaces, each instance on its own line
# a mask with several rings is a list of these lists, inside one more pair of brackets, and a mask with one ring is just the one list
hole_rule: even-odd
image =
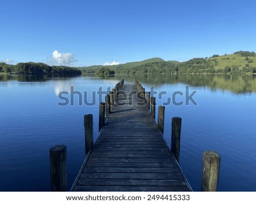
[[82,67],[83,74],[221,74],[256,73],[254,52],[238,51],[233,54],[193,58],[189,61],[164,61],[161,58],[130,62],[114,66]]

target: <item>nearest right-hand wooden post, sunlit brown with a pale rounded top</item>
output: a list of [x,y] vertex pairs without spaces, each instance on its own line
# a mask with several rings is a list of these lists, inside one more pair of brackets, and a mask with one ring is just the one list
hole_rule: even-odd
[[216,192],[218,185],[218,172],[220,171],[220,154],[215,151],[205,151],[203,153],[202,170],[202,192]]

